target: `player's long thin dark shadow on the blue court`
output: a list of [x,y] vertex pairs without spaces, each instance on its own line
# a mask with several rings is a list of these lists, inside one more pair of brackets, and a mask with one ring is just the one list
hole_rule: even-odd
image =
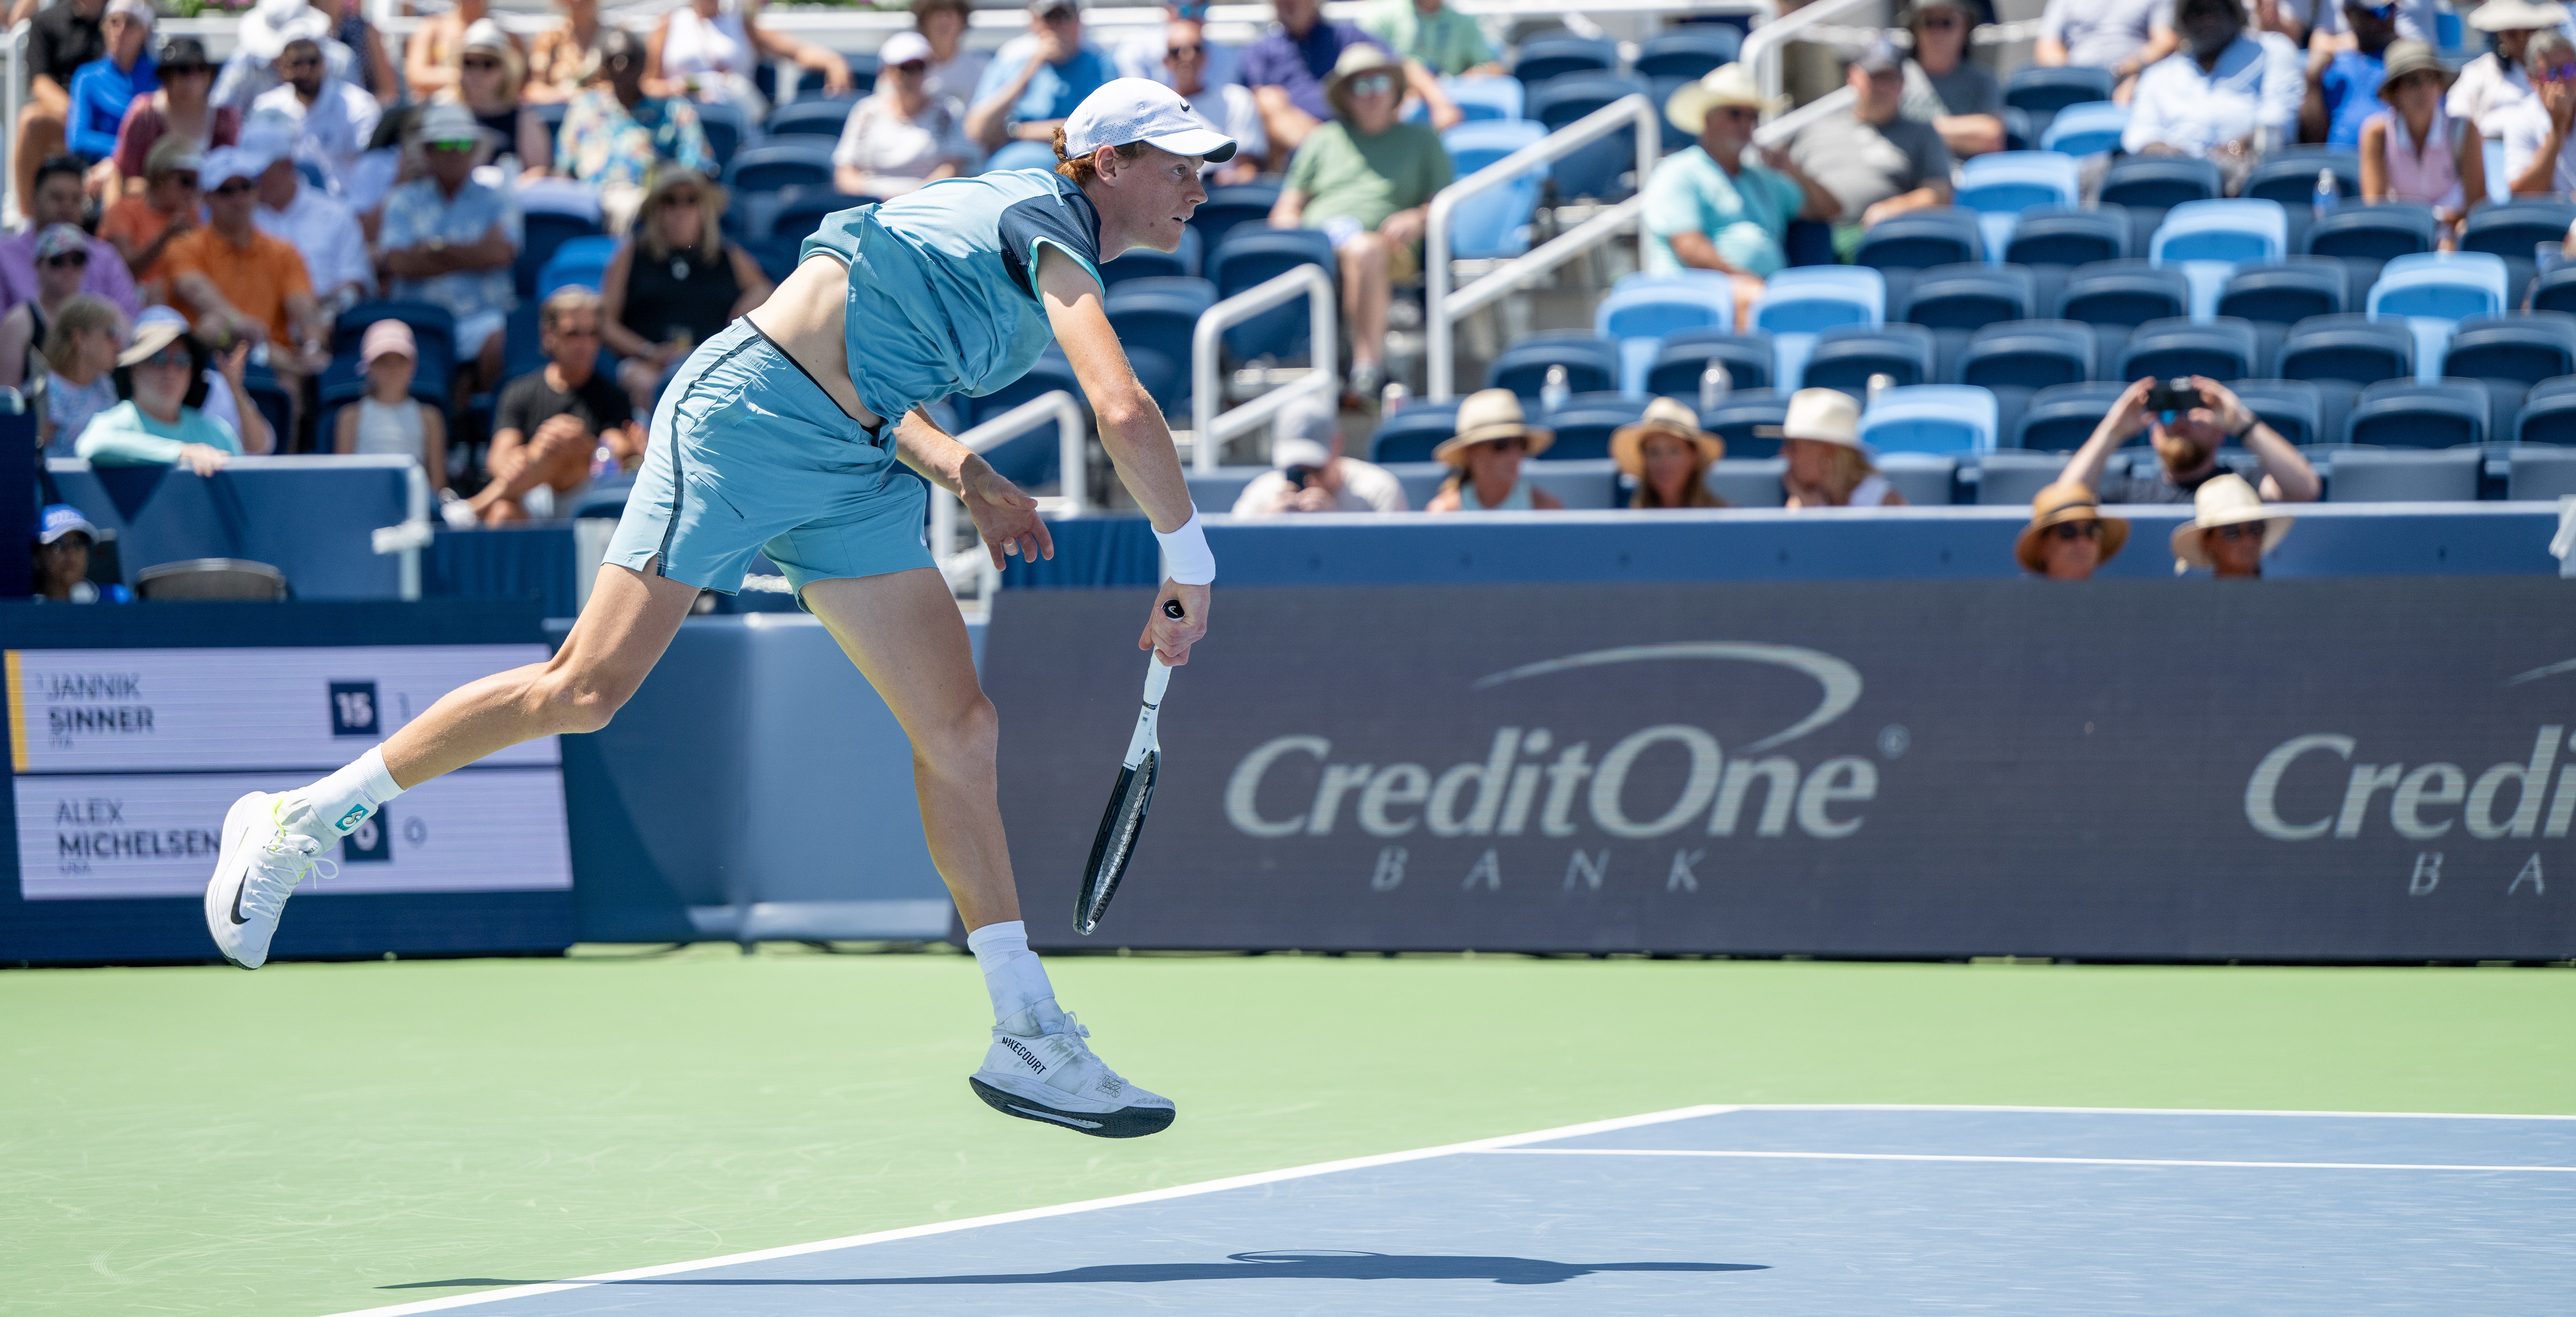
[[[1231,1253],[1224,1263],[1115,1263],[994,1276],[644,1276],[616,1286],[1097,1286],[1154,1281],[1494,1281],[1556,1286],[1602,1271],[1770,1271],[1757,1263],[1548,1263],[1540,1258],[1448,1258],[1406,1253]],[[536,1286],[551,1281],[412,1281],[381,1289]]]

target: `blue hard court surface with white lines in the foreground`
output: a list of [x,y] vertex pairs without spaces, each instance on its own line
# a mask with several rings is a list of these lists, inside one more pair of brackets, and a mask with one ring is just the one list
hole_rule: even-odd
[[2561,1314],[2576,1119],[1687,1108],[523,1281],[374,1312]]

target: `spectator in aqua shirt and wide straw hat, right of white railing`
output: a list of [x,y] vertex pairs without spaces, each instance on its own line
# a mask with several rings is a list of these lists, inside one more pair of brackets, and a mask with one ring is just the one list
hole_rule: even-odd
[[1744,160],[1762,124],[1744,64],[1672,93],[1664,116],[1700,144],[1667,155],[1646,180],[1646,273],[1718,271],[1734,284],[1736,322],[1749,325],[1762,281],[1788,265],[1790,219],[1829,219],[1842,204],[1780,147]]

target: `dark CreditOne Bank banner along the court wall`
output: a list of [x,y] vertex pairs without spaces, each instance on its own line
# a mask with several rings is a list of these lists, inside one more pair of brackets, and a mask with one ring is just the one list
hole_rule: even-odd
[[1092,938],[1144,593],[987,644],[1030,941],[2576,956],[2576,588],[1224,590]]

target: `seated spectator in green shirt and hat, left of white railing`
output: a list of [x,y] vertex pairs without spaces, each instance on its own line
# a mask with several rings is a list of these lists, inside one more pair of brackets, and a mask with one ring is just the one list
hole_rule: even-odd
[[1422,276],[1422,222],[1450,186],[1440,134],[1396,119],[1404,70],[1373,44],[1352,44],[1324,85],[1337,119],[1314,129],[1280,186],[1270,224],[1324,229],[1342,258],[1350,317],[1350,392],[1386,387],[1386,304],[1394,284]]

